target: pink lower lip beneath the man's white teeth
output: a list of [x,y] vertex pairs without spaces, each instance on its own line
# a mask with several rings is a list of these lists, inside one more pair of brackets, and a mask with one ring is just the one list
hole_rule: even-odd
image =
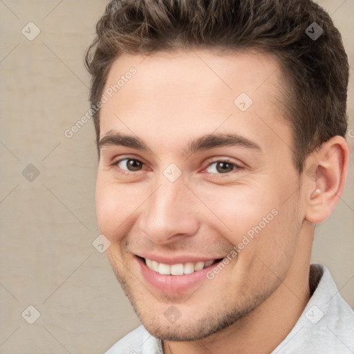
[[218,263],[216,262],[209,267],[203,268],[191,274],[183,275],[165,275],[151,270],[145,262],[139,257],[135,257],[140,265],[142,276],[157,290],[161,292],[168,292],[169,294],[181,294],[187,290],[194,288],[206,279],[206,274],[214,268]]

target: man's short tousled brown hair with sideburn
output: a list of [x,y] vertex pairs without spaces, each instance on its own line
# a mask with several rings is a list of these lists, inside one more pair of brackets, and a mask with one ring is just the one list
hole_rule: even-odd
[[[317,25],[324,32],[314,40],[306,28]],[[299,173],[314,149],[333,136],[346,136],[348,58],[332,19],[313,1],[112,0],[96,31],[85,55],[92,75],[91,106],[100,100],[111,65],[121,53],[255,48],[277,56],[287,81],[284,106]],[[314,31],[310,27],[310,33]],[[98,144],[99,110],[93,121]]]

